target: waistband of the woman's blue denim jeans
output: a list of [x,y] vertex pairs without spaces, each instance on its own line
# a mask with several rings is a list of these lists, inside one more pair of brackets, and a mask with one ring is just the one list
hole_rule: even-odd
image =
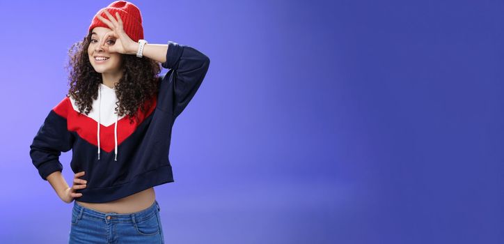
[[156,210],[159,211],[159,204],[157,203],[157,200],[154,200],[154,203],[152,203],[150,207],[135,213],[104,213],[91,208],[86,208],[74,201],[72,214],[76,215],[79,219],[86,216],[86,218],[104,220],[105,222],[137,222],[152,217],[152,215],[156,214]]

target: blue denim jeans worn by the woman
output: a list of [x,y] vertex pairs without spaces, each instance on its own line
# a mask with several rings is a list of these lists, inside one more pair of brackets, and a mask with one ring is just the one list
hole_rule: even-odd
[[74,201],[68,243],[164,243],[157,200],[135,213],[103,213]]

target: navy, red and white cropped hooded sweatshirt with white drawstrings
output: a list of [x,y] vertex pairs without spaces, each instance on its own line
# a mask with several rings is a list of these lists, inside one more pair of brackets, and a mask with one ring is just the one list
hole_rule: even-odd
[[[205,77],[210,59],[188,45],[168,41],[168,73],[159,77],[159,93],[138,112],[138,122],[118,116],[115,90],[100,84],[88,115],[80,114],[65,96],[47,115],[30,146],[33,165],[43,180],[63,171],[61,152],[72,149],[70,167],[87,187],[79,201],[103,203],[127,197],[155,185],[173,182],[168,154],[171,128]],[[73,184],[73,178],[72,178]],[[71,184],[70,184],[71,185]]]

